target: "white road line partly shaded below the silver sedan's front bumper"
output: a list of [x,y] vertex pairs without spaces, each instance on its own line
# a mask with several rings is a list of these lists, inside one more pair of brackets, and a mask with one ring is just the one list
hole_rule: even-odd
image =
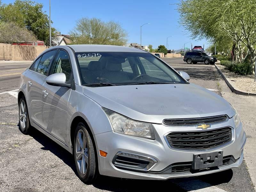
[[200,180],[183,181],[176,184],[189,192],[227,192]]

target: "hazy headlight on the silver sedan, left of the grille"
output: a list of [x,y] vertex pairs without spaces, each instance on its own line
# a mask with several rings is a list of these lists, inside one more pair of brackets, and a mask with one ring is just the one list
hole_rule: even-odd
[[114,111],[108,110],[106,108],[102,109],[107,114],[114,132],[136,137],[155,139],[153,126],[151,123],[134,121]]

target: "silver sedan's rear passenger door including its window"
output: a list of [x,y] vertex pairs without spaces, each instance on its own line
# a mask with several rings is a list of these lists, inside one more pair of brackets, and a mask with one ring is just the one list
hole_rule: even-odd
[[29,117],[33,123],[41,127],[43,123],[42,116],[42,91],[45,78],[47,77],[50,63],[54,57],[56,50],[44,53],[39,57],[28,70],[27,82],[27,104],[29,109]]

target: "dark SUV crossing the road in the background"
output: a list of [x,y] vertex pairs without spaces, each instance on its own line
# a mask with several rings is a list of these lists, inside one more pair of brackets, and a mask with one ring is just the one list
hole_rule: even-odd
[[202,62],[206,65],[212,64],[217,61],[216,57],[208,56],[206,53],[202,52],[187,52],[183,59],[188,64],[196,64],[197,62]]

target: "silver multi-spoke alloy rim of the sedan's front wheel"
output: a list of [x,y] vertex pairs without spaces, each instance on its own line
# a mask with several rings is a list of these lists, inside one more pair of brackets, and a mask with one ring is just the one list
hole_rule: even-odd
[[76,163],[81,174],[85,174],[88,166],[88,146],[86,135],[79,130],[76,135]]

